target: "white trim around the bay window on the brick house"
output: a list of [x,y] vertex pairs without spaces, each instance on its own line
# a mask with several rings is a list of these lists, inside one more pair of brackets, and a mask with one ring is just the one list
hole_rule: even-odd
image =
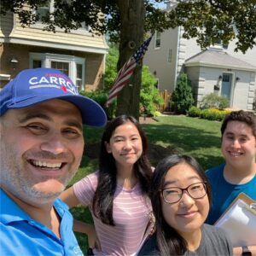
[[67,62],[69,64],[68,68],[68,76],[76,84],[77,79],[77,68],[76,64],[82,65],[82,86],[80,90],[84,90],[84,81],[85,81],[85,59],[73,55],[57,55],[57,54],[49,54],[49,53],[34,53],[31,52],[29,54],[29,67],[32,68],[33,61],[42,61],[42,67],[50,67],[51,61],[58,61],[58,62]]

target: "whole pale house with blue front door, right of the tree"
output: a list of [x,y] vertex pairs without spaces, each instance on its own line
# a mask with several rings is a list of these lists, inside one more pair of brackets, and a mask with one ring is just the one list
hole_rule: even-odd
[[[167,3],[167,8],[174,2]],[[230,99],[230,108],[252,110],[256,47],[248,49],[245,55],[234,51],[235,42],[226,46],[215,44],[202,51],[195,38],[185,39],[182,34],[181,27],[155,32],[149,44],[143,63],[158,79],[159,90],[172,92],[178,76],[184,72],[191,80],[198,107],[203,96],[215,92]]]

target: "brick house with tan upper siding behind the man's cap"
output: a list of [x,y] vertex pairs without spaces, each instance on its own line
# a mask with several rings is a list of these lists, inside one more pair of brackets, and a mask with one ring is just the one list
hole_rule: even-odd
[[[38,11],[45,8],[48,7]],[[20,70],[35,67],[60,69],[79,90],[102,86],[108,54],[103,37],[92,37],[86,26],[70,33],[56,28],[54,33],[43,31],[44,25],[40,22],[24,28],[18,16],[11,13],[0,19],[0,88]]]

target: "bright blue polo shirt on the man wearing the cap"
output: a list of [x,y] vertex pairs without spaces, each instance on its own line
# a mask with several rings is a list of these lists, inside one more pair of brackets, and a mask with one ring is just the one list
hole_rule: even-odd
[[61,239],[30,218],[0,189],[0,255],[83,255],[73,234],[73,217],[67,205],[55,200],[61,219]]

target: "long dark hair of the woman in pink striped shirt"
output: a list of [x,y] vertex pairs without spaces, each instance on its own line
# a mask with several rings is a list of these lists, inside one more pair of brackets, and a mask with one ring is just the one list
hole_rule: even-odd
[[102,223],[112,226],[114,226],[113,195],[117,185],[117,170],[113,154],[107,152],[106,143],[109,143],[109,140],[113,135],[113,131],[115,131],[119,125],[124,125],[126,123],[132,123],[135,125],[140,137],[142,138],[143,153],[134,164],[133,168],[143,193],[146,195],[149,193],[149,183],[152,177],[152,169],[147,157],[148,140],[137,119],[128,115],[120,115],[119,117],[110,121],[102,135],[102,144],[99,157],[99,178],[96,192],[92,201],[92,210],[95,216],[102,220]]

